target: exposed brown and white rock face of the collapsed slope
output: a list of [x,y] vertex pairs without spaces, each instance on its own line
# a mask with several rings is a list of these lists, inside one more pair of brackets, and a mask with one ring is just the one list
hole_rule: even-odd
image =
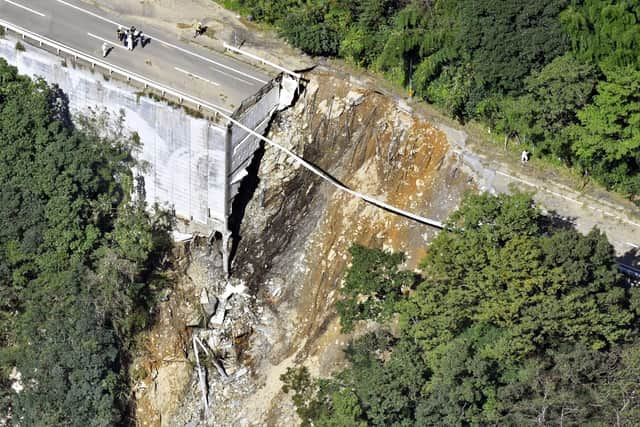
[[[442,220],[455,208],[471,184],[448,155],[444,133],[406,104],[350,83],[334,70],[317,69],[308,78],[297,104],[272,124],[270,138],[349,187],[402,209]],[[180,360],[189,369],[154,359],[156,371],[148,377],[154,372],[157,377],[148,387],[170,391],[143,393],[138,406],[161,414],[160,421],[147,425],[298,424],[279,376],[298,363],[317,375],[342,366],[350,337],[339,333],[333,303],[349,246],[359,242],[404,251],[406,267],[415,268],[436,232],[338,192],[270,147],[260,157],[257,180],[243,184],[244,201],[234,205],[234,213],[243,216],[235,228],[232,281],[221,275],[217,250],[209,251],[204,242],[193,245],[184,280],[160,310],[160,327],[167,310],[200,325],[186,328],[183,320],[183,333],[166,336],[163,345],[171,347],[173,339],[185,346],[191,331],[208,348],[211,356],[199,354],[207,368],[210,412],[205,417],[202,411],[187,344]],[[207,304],[214,299],[218,304],[209,313]],[[160,375],[180,380],[158,380]],[[140,413],[138,419],[148,418]]]

